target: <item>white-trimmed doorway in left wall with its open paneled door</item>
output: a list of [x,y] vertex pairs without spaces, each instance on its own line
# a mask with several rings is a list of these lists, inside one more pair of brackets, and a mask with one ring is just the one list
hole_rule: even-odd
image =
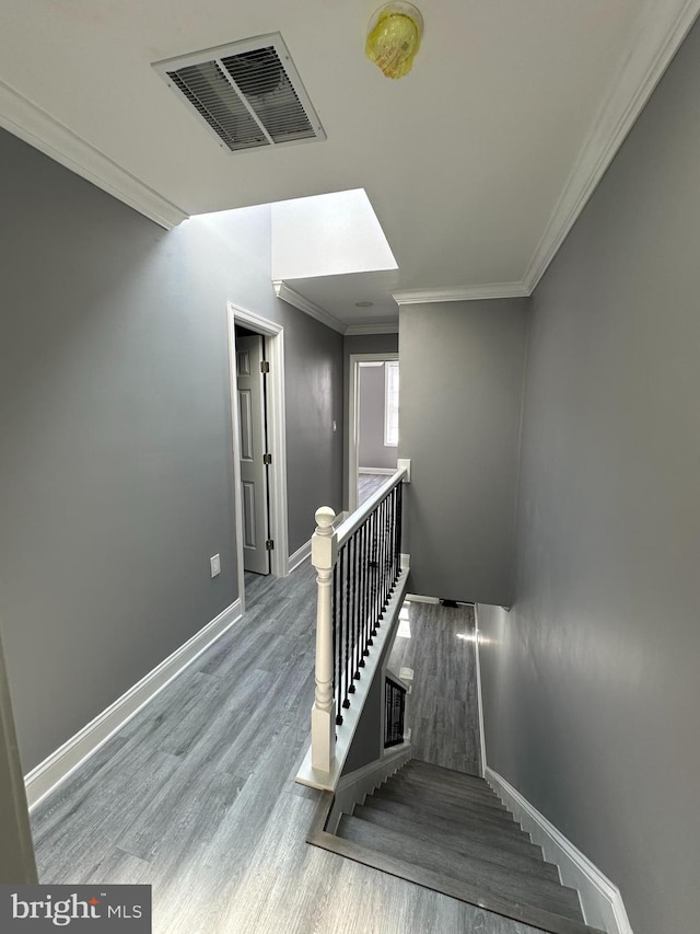
[[[229,359],[238,593],[289,574],[284,333],[229,303]],[[246,593],[247,584],[247,593]]]

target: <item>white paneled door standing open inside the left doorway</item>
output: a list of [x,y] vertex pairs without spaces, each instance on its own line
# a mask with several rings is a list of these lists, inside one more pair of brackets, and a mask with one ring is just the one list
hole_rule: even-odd
[[262,337],[236,337],[236,384],[241,431],[241,495],[243,503],[243,566],[270,573],[267,550],[267,465],[265,464],[265,376]]

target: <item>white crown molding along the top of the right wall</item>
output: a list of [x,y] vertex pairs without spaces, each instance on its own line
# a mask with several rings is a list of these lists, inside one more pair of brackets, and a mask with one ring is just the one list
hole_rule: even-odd
[[700,0],[650,0],[612,76],[573,170],[524,276],[528,295],[557,255],[634,120],[700,13]]

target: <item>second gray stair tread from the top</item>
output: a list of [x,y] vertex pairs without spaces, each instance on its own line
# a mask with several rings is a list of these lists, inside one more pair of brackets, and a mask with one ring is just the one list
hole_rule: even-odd
[[358,805],[352,816],[366,820],[369,823],[385,827],[388,830],[406,833],[415,840],[422,840],[425,843],[433,843],[439,839],[442,846],[462,855],[477,856],[479,860],[495,863],[499,866],[512,868],[515,872],[538,872],[541,873],[544,878],[559,884],[559,870],[552,863],[545,862],[540,847],[535,846],[533,843],[526,844],[529,850],[523,849],[521,852],[513,853],[511,850],[504,850],[500,846],[498,840],[476,839],[472,835],[470,837],[460,832],[448,834],[442,828],[417,823],[410,817],[399,817],[396,814],[388,814],[381,808]]

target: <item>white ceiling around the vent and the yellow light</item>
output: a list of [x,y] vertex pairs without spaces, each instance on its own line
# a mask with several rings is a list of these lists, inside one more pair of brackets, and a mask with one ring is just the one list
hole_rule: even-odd
[[[291,284],[345,322],[395,318],[390,291],[528,293],[700,0],[418,0],[400,81],[363,55],[375,5],[4,3],[0,124],[164,224],[364,188],[398,270]],[[151,64],[277,31],[327,141],[229,153]]]

